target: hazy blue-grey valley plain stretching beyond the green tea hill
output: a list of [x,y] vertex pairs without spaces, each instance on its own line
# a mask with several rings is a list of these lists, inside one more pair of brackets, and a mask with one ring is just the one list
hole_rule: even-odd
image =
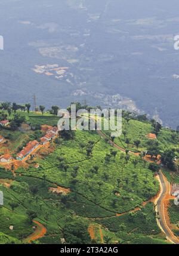
[[[126,107],[178,121],[176,0],[1,1],[0,100]],[[51,66],[55,65],[55,66]]]

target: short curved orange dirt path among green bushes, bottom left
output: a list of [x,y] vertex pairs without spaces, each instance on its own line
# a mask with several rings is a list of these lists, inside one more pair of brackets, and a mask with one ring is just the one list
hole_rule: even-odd
[[24,242],[30,243],[39,238],[43,238],[47,233],[47,229],[44,227],[44,225],[42,225],[36,220],[33,220],[33,223],[35,224],[36,229],[30,236],[24,239]]

